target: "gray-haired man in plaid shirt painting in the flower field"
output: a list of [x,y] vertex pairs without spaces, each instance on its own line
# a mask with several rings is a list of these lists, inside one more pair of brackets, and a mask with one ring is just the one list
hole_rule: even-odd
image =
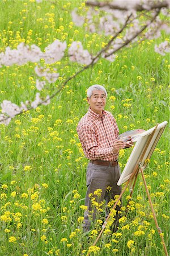
[[[85,156],[90,159],[87,167],[87,193],[84,213],[84,231],[91,228],[89,215],[92,210],[89,195],[96,189],[101,189],[100,202],[105,199],[114,200],[115,195],[120,195],[121,187],[117,185],[120,178],[118,165],[118,152],[121,148],[130,147],[125,142],[118,140],[118,127],[113,115],[104,110],[107,99],[107,91],[101,85],[92,85],[87,89],[87,102],[90,105],[88,112],[82,117],[77,126],[79,140],[82,144]],[[131,141],[129,141],[131,143]],[[110,191],[108,193],[107,187]],[[116,208],[117,212],[120,209]],[[96,211],[92,214],[95,220]],[[106,210],[108,216],[109,211]],[[106,217],[107,217],[106,216]],[[115,224],[117,225],[118,213]]]

